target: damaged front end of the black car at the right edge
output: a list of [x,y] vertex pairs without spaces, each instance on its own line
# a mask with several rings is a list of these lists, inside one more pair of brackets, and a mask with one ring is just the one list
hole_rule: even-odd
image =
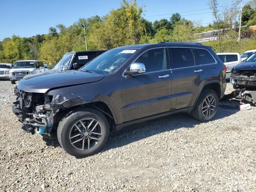
[[238,87],[256,87],[256,70],[232,70],[230,82]]

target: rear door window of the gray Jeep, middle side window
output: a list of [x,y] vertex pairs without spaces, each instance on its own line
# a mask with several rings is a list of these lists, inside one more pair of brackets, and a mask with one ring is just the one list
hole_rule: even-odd
[[194,55],[190,48],[169,48],[169,50],[172,52],[172,68],[195,66]]

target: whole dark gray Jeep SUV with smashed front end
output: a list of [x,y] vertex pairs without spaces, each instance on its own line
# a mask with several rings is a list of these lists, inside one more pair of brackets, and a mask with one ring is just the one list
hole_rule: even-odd
[[212,120],[225,72],[212,48],[198,43],[118,47],[78,71],[20,80],[12,109],[25,132],[57,135],[66,152],[84,157],[129,124],[178,112]]

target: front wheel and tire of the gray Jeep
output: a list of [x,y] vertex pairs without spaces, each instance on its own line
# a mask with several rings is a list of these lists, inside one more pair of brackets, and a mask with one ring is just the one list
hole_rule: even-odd
[[60,146],[76,157],[90,156],[101,150],[108,135],[106,117],[92,108],[78,108],[69,112],[57,129]]

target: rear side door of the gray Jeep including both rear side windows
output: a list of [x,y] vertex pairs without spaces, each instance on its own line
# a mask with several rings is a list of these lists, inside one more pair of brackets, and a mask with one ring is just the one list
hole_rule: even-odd
[[216,60],[202,48],[168,48],[172,69],[172,110],[194,105],[205,80],[214,76]]

